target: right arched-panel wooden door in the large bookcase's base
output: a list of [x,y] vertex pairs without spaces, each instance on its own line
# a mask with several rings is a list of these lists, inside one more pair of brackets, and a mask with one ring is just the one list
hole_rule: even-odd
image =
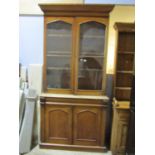
[[101,110],[76,107],[73,111],[73,144],[99,146],[101,138]]

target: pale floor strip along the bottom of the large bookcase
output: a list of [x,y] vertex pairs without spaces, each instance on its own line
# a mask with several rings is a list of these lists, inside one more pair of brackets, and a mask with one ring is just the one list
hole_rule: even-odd
[[106,153],[96,152],[82,152],[82,151],[66,151],[66,150],[51,150],[51,149],[40,149],[36,146],[31,152],[25,155],[112,155],[110,151]]

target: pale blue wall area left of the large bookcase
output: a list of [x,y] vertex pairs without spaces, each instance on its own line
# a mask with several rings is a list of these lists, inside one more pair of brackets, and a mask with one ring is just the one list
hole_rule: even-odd
[[19,61],[26,67],[43,63],[43,16],[19,17]]

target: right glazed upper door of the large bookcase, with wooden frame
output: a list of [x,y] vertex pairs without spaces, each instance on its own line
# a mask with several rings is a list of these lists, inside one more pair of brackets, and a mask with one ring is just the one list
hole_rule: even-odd
[[101,18],[76,19],[78,93],[101,94],[104,89],[107,23]]

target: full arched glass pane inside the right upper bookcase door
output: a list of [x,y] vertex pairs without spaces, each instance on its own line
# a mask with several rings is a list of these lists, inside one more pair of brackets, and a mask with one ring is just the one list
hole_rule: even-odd
[[101,90],[105,25],[87,22],[80,26],[78,89]]

